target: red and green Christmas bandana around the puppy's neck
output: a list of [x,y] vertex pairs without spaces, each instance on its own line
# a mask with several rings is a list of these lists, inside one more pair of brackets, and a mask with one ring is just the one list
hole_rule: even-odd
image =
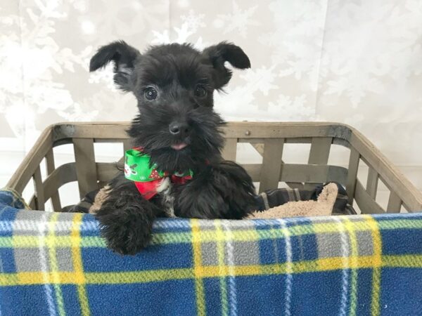
[[127,150],[124,157],[124,176],[134,181],[136,188],[144,199],[151,199],[158,193],[158,187],[166,178],[170,177],[172,183],[184,184],[191,180],[193,172],[189,169],[184,173],[159,171],[157,165],[150,166],[150,157],[142,149]]

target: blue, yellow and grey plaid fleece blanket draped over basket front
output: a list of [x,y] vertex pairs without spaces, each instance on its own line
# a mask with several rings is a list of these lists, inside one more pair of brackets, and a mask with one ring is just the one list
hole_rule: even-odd
[[0,192],[1,315],[421,315],[422,213],[157,220],[119,256]]

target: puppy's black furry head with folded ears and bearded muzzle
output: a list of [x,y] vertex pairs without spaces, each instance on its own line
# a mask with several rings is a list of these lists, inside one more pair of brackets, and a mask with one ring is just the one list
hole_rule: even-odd
[[212,94],[231,78],[224,65],[250,67],[241,48],[222,42],[198,51],[189,44],[153,46],[145,53],[124,41],[101,47],[89,70],[114,62],[115,84],[134,93],[139,115],[128,133],[162,171],[185,171],[219,154],[224,121]]

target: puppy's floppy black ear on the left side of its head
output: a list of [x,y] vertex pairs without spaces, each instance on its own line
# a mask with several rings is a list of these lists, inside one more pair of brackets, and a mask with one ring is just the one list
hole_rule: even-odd
[[135,61],[140,56],[141,53],[136,48],[127,45],[124,41],[114,41],[98,49],[89,62],[89,71],[94,72],[113,60],[115,84],[124,91],[133,91],[134,77],[132,77],[132,73]]

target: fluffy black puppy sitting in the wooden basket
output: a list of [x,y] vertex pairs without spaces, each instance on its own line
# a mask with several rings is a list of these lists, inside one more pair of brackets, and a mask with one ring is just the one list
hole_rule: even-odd
[[[231,78],[224,66],[250,67],[241,48],[222,42],[198,51],[189,44],[153,46],[139,53],[124,41],[101,47],[92,72],[113,61],[114,81],[134,93],[139,114],[127,131],[134,147],[165,173],[153,197],[141,195],[124,175],[110,183],[96,218],[108,246],[136,254],[148,244],[158,216],[240,219],[255,209],[255,187],[248,173],[223,161],[223,119],[213,110],[212,94]],[[170,183],[174,174],[192,171],[191,180]]]

